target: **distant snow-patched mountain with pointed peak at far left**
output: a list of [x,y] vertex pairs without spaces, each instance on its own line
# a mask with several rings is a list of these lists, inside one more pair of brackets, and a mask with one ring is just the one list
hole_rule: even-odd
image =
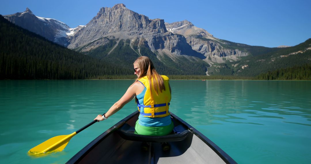
[[75,32],[83,28],[83,26],[70,28],[59,20],[35,16],[29,8],[26,8],[26,11],[24,12],[5,15],[4,18],[24,29],[39,34],[46,39],[65,47],[68,45],[66,37],[73,35]]

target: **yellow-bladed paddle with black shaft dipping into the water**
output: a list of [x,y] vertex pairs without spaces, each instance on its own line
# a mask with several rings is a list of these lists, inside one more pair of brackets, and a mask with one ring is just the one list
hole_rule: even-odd
[[[103,114],[104,115],[104,114]],[[75,136],[76,134],[80,133],[82,130],[86,129],[87,127],[93,125],[97,120],[90,122],[89,124],[85,125],[81,129],[73,132],[69,135],[59,135],[53,138],[50,138],[43,143],[40,143],[36,147],[30,149],[28,154],[30,155],[39,155],[42,153],[52,153],[52,152],[61,152],[67,146],[70,139]]]

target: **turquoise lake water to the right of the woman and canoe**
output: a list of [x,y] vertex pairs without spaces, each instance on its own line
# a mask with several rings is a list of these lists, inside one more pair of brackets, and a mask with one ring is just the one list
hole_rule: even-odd
[[170,110],[238,163],[311,161],[310,81],[171,83]]

